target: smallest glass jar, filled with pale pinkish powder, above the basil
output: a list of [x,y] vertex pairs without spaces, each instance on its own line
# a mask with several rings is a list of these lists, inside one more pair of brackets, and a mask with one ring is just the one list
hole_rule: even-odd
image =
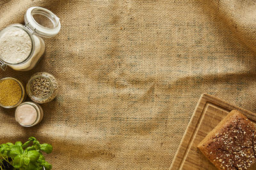
[[39,104],[33,102],[21,103],[15,110],[15,120],[23,127],[39,124],[44,117],[44,111]]

